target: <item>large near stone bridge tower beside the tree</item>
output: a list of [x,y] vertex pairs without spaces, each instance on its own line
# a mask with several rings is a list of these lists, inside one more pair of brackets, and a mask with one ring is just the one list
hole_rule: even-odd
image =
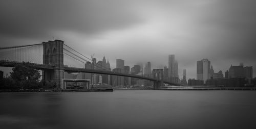
[[62,88],[64,78],[63,42],[54,40],[42,43],[44,45],[43,64],[55,65],[54,70],[42,71],[42,79],[56,82],[57,88]]

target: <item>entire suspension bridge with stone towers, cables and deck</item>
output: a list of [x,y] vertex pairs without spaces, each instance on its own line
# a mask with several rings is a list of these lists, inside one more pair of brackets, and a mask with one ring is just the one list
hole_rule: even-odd
[[64,72],[108,74],[149,80],[154,82],[154,89],[161,89],[163,83],[180,86],[180,84],[163,81],[162,69],[154,69],[153,78],[150,78],[142,75],[114,72],[107,70],[107,68],[102,70],[104,66],[97,63],[94,64],[96,68],[85,68],[84,64],[92,62],[92,59],[79,53],[61,40],[32,45],[0,47],[0,66],[15,67],[22,64],[22,62],[30,62],[31,67],[42,70],[42,80],[55,81],[59,88],[63,88]]

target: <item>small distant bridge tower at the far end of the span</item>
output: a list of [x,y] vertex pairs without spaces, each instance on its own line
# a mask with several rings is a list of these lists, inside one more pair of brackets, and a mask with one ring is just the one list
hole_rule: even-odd
[[158,79],[154,82],[154,90],[160,90],[163,86],[163,69],[153,69],[153,78]]

